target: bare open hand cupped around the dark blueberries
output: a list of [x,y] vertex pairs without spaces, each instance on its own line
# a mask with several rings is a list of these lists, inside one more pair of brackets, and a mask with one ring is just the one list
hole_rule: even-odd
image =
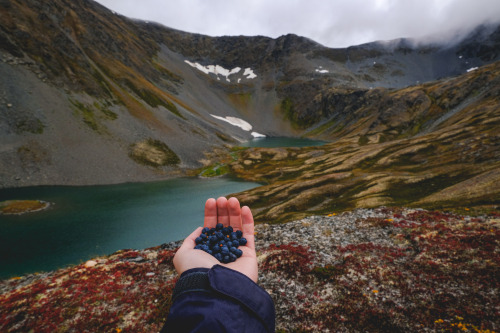
[[247,239],[245,246],[240,246],[243,251],[240,258],[235,262],[223,264],[212,255],[195,250],[195,239],[201,234],[202,227],[196,229],[189,235],[174,256],[174,266],[179,274],[191,268],[212,268],[213,265],[222,265],[238,271],[257,282],[258,268],[257,255],[255,253],[254,221],[250,208],[244,206],[240,208],[240,203],[236,198],[227,200],[224,197],[208,199],[205,203],[204,227],[215,228],[217,223],[222,223],[224,227],[232,226],[234,231],[241,230],[243,237]]

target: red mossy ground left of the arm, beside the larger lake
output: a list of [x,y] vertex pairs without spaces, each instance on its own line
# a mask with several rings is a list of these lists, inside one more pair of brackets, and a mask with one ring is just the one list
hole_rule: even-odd
[[165,275],[165,269],[173,269],[168,266],[171,252],[160,253],[161,269],[157,261],[120,261],[140,255],[129,251],[105,264],[62,270],[1,295],[0,331],[158,331],[177,280]]

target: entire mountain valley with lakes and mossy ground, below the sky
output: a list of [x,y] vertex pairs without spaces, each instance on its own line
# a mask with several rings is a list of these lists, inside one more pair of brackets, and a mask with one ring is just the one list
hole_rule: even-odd
[[34,211],[0,214],[0,330],[158,331],[219,195],[278,332],[498,330],[499,129],[498,24],[329,48],[0,0],[0,209]]

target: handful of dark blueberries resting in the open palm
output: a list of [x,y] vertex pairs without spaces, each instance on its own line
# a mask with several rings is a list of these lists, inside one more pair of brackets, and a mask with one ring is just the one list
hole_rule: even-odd
[[227,264],[236,261],[243,254],[238,247],[245,245],[247,240],[242,236],[241,230],[233,231],[233,227],[224,228],[222,223],[218,223],[215,228],[203,228],[201,235],[195,240],[194,248],[203,250]]

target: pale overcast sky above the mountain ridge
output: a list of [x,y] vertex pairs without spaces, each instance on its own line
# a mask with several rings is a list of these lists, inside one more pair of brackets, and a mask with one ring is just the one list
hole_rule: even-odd
[[[209,36],[308,37],[329,47],[468,31],[500,0],[97,0],[128,17]],[[446,37],[447,38],[447,37]]]

